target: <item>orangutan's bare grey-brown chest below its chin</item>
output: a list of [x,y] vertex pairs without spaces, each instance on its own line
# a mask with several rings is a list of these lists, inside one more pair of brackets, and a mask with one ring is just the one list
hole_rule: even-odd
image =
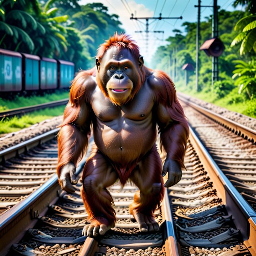
[[91,103],[94,114],[103,122],[110,122],[121,118],[130,120],[144,120],[152,112],[154,102],[149,95],[138,93],[130,102],[116,106],[103,95],[93,97]]

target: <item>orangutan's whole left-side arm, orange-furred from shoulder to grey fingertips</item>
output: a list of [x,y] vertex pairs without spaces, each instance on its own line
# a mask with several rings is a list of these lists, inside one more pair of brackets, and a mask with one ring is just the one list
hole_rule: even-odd
[[75,191],[73,185],[77,183],[76,166],[88,147],[91,117],[87,99],[93,84],[85,72],[78,73],[71,86],[70,100],[58,134],[57,175],[63,190],[70,193]]

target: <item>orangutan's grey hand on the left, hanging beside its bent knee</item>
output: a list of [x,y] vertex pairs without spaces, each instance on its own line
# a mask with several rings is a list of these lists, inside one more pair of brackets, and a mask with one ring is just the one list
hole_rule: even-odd
[[63,190],[67,191],[68,193],[74,193],[76,191],[76,188],[73,186],[77,184],[76,166],[72,162],[63,165],[60,170],[59,180]]

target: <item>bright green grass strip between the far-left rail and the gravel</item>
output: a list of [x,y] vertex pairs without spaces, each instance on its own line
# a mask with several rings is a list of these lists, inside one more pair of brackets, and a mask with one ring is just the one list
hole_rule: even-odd
[[63,115],[64,108],[65,106],[46,108],[44,110],[31,112],[30,114],[21,117],[15,116],[13,118],[3,118],[0,120],[0,134],[16,132],[46,119]]

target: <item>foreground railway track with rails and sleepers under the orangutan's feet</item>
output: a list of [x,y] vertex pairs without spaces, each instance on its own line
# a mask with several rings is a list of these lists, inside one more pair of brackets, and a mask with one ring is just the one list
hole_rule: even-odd
[[20,212],[16,204],[0,216],[1,255],[256,255],[253,209],[214,164],[210,167],[209,156],[200,148],[191,131],[187,170],[180,183],[165,193],[156,212],[159,232],[139,232],[130,221],[128,205],[136,187],[128,183],[123,191],[118,184],[110,188],[116,227],[97,239],[81,236],[87,223],[81,183],[69,195],[59,191],[53,175],[41,191],[19,203]]

